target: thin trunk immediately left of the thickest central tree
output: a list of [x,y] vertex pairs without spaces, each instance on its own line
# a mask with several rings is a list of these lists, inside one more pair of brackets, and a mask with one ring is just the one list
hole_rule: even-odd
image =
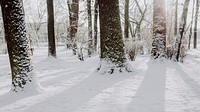
[[94,49],[97,51],[97,35],[98,35],[98,0],[94,4]]

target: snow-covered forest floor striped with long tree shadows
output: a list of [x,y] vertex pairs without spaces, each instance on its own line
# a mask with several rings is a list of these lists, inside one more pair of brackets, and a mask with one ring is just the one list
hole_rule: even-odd
[[130,62],[130,74],[96,73],[98,57],[79,61],[59,47],[58,58],[36,48],[33,63],[38,94],[10,94],[8,56],[0,54],[0,112],[200,112],[200,51],[184,63],[153,61],[149,55]]

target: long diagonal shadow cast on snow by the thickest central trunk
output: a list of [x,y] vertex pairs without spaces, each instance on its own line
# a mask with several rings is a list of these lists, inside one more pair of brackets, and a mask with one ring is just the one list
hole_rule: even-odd
[[[33,105],[29,110],[46,112],[51,108],[52,112],[57,109],[62,112],[72,112],[77,110],[82,104],[88,102],[91,98],[99,94],[102,90],[112,87],[114,84],[130,78],[126,75],[90,75],[79,84],[67,89],[60,94],[56,94],[44,101]],[[112,79],[112,80],[111,80]],[[46,107],[46,108],[45,108]]]

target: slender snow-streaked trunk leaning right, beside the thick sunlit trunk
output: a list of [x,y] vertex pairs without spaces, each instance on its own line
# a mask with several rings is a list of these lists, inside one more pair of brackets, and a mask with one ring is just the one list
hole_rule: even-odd
[[190,0],[185,0],[184,6],[183,6],[183,12],[181,16],[181,21],[179,25],[179,34],[176,37],[176,42],[175,42],[175,49],[174,49],[174,56],[173,59],[175,61],[179,61],[180,57],[180,52],[181,52],[181,44],[185,32],[185,26],[187,22],[187,15],[188,15],[188,6],[189,6]]

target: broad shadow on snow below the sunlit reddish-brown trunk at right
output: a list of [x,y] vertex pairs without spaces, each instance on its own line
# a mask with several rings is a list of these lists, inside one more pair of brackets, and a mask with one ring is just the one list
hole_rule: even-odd
[[165,62],[150,60],[146,76],[129,104],[127,112],[164,112]]

